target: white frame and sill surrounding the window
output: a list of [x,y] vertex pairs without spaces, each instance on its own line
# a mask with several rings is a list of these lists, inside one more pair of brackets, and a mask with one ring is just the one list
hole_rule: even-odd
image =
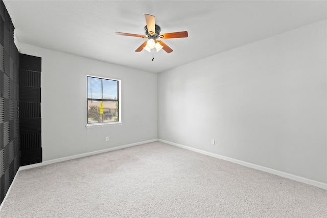
[[[94,76],[94,75],[86,75],[86,108],[87,108],[87,77],[95,77],[95,78],[99,78],[99,79],[118,81],[118,105],[119,105],[118,106],[118,118],[119,118],[119,120],[116,122],[86,124],[86,128],[122,125],[122,81],[118,80],[118,79],[110,79],[110,78],[99,77],[99,76]],[[87,117],[87,111],[86,111],[86,117]]]

